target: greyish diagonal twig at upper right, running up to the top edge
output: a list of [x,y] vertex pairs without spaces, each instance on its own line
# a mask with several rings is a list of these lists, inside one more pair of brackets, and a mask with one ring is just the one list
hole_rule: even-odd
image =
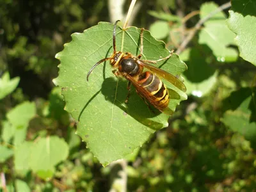
[[197,24],[195,25],[195,28],[188,34],[188,36],[186,36],[185,40],[182,42],[182,44],[180,44],[180,47],[177,49],[176,53],[180,54],[180,52],[182,52],[186,46],[189,44],[189,42],[191,41],[191,39],[193,38],[193,36],[195,36],[196,31],[198,31],[198,29],[201,28],[202,24],[204,24],[205,21],[211,19],[211,17],[213,15],[215,15],[218,12],[221,12],[227,8],[230,8],[231,3],[225,3],[222,4],[220,7],[218,7],[218,9],[214,10],[213,12],[209,13],[209,15],[207,15],[206,17],[204,17],[203,19],[200,19]]

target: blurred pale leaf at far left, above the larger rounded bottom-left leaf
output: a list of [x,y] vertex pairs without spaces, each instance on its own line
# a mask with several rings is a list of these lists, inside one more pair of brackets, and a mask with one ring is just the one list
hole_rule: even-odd
[[[22,102],[7,113],[10,122],[10,136],[14,136],[14,145],[19,145],[26,139],[29,121],[36,115],[34,102]],[[5,127],[6,128],[6,127]],[[14,132],[14,135],[12,135]],[[12,134],[11,134],[12,133]]]

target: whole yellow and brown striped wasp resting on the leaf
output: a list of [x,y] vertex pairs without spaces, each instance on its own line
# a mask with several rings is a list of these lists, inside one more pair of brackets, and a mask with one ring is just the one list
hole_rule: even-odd
[[[87,74],[87,81],[95,67],[104,61],[110,60],[110,64],[114,68],[113,74],[128,80],[128,94],[125,102],[129,99],[132,84],[146,104],[149,102],[152,106],[159,109],[159,111],[167,115],[172,115],[173,110],[168,107],[170,90],[166,88],[161,78],[166,79],[179,88],[179,90],[182,90],[182,92],[186,92],[186,86],[172,74],[148,64],[156,64],[158,61],[168,60],[172,56],[172,52],[165,58],[159,60],[140,60],[143,54],[143,28],[141,28],[140,32],[140,54],[138,56],[133,56],[130,52],[116,51],[116,25],[119,21],[116,20],[113,29],[113,54],[111,57],[104,58],[93,65]],[[143,72],[143,68],[147,68],[147,71]]]

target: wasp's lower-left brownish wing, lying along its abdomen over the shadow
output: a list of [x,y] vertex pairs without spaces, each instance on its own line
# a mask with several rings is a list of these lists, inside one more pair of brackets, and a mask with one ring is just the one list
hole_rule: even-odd
[[159,111],[165,113],[166,115],[172,115],[173,114],[173,110],[168,108],[168,107],[164,108],[164,109],[163,108],[159,108],[157,97],[155,97],[154,95],[150,94],[150,92],[148,92],[145,88],[143,88],[143,86],[138,84],[131,76],[126,76],[125,78],[132,83],[132,85],[139,92],[138,94],[141,97],[147,99],[148,102],[150,102],[150,104],[152,104],[155,108],[157,108]]

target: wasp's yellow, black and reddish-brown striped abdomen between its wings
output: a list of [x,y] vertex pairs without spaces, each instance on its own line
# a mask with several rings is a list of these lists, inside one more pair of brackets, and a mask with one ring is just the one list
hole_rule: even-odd
[[[157,109],[164,109],[169,104],[169,92],[163,81],[151,72],[144,72],[139,76],[138,84],[148,92],[148,99]],[[145,96],[145,95],[144,95]]]

